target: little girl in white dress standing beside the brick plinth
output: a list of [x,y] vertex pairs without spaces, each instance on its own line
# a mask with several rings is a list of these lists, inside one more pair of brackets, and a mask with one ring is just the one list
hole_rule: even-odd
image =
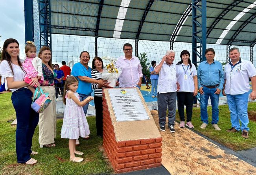
[[79,95],[76,92],[77,88],[77,78],[74,76],[67,76],[63,94],[63,103],[66,105],[66,108],[61,128],[61,138],[69,139],[69,160],[72,162],[83,161],[82,157],[75,156],[75,154],[83,155],[83,152],[76,150],[76,139],[90,134],[89,125],[82,106],[93,100],[93,97],[90,96],[80,102]]

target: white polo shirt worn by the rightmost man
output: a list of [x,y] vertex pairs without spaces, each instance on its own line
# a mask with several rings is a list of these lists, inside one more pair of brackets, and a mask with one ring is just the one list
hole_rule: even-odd
[[225,66],[225,93],[230,95],[244,94],[250,90],[249,77],[256,76],[256,69],[250,61],[241,59],[233,69],[230,63]]

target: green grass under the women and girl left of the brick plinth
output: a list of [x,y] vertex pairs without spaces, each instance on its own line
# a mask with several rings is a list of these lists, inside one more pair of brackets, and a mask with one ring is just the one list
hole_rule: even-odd
[[[84,152],[85,160],[81,163],[69,162],[68,139],[60,136],[62,119],[57,120],[57,137],[55,148],[40,148],[38,143],[38,127],[33,137],[32,149],[39,152],[32,157],[38,160],[35,165],[17,163],[15,149],[16,127],[11,122],[16,118],[15,110],[11,103],[11,93],[0,94],[0,174],[17,175],[66,175],[66,174],[109,174],[113,173],[109,162],[102,157],[99,147],[102,139],[96,136],[95,117],[87,117],[90,126],[89,140],[79,139],[80,146],[77,150]],[[8,122],[9,121],[9,122]]]

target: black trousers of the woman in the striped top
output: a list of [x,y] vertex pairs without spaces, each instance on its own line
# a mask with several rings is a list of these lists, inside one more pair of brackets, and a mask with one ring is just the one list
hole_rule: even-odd
[[103,134],[103,106],[102,97],[94,96],[95,112],[96,112],[96,129],[97,135],[102,136]]

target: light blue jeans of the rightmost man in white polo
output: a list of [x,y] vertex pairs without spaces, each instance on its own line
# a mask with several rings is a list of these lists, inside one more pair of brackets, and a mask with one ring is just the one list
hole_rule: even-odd
[[[236,130],[247,130],[248,128],[248,96],[249,92],[245,92],[244,94],[238,95],[230,95],[227,94],[228,108],[230,111],[230,121],[232,128]],[[240,126],[239,120],[241,121],[242,126]]]

